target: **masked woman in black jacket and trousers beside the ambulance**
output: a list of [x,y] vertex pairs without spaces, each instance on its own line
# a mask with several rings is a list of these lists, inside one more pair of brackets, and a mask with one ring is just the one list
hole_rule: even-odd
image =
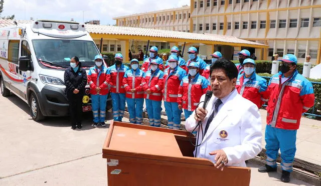
[[81,68],[78,57],[70,60],[70,67],[65,71],[66,96],[69,101],[71,128],[81,128],[82,98],[87,84],[87,73]]

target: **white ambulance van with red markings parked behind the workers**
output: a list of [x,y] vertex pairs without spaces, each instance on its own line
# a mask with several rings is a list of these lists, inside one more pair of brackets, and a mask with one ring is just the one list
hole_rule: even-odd
[[[99,54],[85,26],[76,22],[38,20],[2,28],[1,93],[6,97],[12,92],[24,100],[35,121],[46,116],[66,116],[69,104],[64,72],[70,66],[70,59],[79,57],[88,71]],[[85,94],[84,112],[91,110],[88,85]]]

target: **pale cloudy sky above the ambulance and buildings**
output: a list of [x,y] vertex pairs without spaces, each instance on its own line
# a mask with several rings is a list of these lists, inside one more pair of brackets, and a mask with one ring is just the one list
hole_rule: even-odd
[[[156,3],[157,2],[157,3]],[[159,3],[161,2],[161,3]],[[5,0],[1,16],[16,20],[48,19],[74,21],[100,20],[101,25],[116,24],[113,17],[190,6],[190,0]]]

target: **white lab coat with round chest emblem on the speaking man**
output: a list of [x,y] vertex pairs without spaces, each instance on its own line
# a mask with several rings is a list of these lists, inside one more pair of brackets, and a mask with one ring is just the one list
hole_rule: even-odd
[[[204,98],[205,95],[201,97],[201,101],[204,101]],[[203,130],[205,130],[207,120],[217,99],[213,95],[207,104],[208,114],[202,122]],[[222,102],[223,104],[219,107],[204,139],[202,139],[202,131],[200,131],[199,143],[201,141],[202,143],[198,147],[196,157],[207,158],[215,163],[215,155],[209,153],[223,149],[229,160],[228,166],[245,167],[245,160],[253,158],[262,149],[261,115],[257,106],[240,96],[236,89],[225,99],[223,98]],[[199,107],[202,106],[203,103]],[[186,120],[186,129],[190,132],[197,124],[194,115],[195,111]]]

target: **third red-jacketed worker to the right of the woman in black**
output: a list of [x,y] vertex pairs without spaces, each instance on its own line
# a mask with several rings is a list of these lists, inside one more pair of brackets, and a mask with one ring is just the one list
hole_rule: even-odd
[[144,91],[142,89],[141,81],[145,73],[139,69],[137,59],[132,59],[130,65],[131,70],[127,70],[122,79],[126,91],[129,122],[141,124],[142,106],[144,104]]

